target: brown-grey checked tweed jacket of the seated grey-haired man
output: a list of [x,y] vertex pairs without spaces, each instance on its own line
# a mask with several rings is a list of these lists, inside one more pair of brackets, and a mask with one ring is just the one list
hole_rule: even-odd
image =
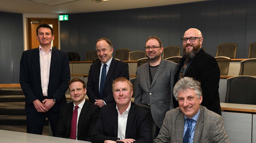
[[[182,143],[184,114],[179,108],[168,111],[154,143]],[[200,105],[193,143],[230,143],[222,117]]]

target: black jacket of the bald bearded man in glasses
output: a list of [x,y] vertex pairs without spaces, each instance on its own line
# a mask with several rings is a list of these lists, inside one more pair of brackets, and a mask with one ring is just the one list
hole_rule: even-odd
[[[177,77],[184,61],[184,58],[179,61],[179,68],[175,74],[174,83],[177,82]],[[203,96],[201,105],[221,115],[219,96],[220,69],[216,59],[201,49],[187,68],[185,76],[193,77],[201,83]],[[175,108],[178,107],[178,102],[174,97],[173,102],[175,103]]]

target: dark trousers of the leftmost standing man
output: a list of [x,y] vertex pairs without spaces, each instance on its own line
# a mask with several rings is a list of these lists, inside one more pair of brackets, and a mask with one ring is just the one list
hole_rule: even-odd
[[59,119],[59,112],[53,112],[51,109],[48,112],[42,113],[26,113],[27,115],[27,133],[42,134],[46,117],[48,118],[51,131],[55,136],[57,123]]

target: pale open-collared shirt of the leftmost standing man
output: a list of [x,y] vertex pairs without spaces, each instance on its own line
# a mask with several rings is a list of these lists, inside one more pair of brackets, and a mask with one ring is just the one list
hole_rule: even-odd
[[44,49],[39,45],[40,74],[43,96],[48,96],[47,90],[49,84],[49,73],[51,65],[51,51],[52,47],[47,51],[47,53],[45,53]]

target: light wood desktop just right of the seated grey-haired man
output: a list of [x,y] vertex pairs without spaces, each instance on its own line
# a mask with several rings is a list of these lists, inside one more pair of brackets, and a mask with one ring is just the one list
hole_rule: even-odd
[[234,103],[220,103],[221,110],[242,111],[242,112],[256,112],[256,105],[249,104],[234,104]]

